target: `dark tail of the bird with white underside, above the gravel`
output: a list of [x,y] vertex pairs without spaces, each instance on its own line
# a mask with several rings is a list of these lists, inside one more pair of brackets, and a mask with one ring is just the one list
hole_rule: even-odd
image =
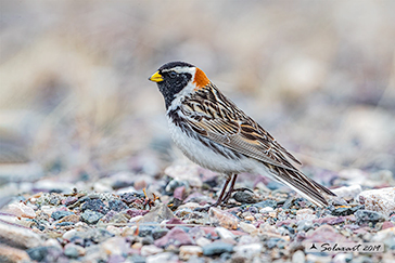
[[289,170],[281,167],[265,163],[273,173],[272,176],[277,181],[285,184],[297,194],[308,199],[318,207],[327,207],[328,201],[322,194],[336,196],[327,187],[306,176],[301,171]]

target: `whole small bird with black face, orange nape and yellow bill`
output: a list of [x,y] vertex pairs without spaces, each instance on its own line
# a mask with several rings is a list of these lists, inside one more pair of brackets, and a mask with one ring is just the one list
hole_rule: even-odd
[[327,196],[335,196],[298,170],[293,163],[302,162],[226,97],[199,67],[169,62],[149,80],[156,82],[164,97],[169,132],[178,148],[199,166],[226,175],[212,206],[229,200],[242,172],[278,181],[321,208],[328,206]]

